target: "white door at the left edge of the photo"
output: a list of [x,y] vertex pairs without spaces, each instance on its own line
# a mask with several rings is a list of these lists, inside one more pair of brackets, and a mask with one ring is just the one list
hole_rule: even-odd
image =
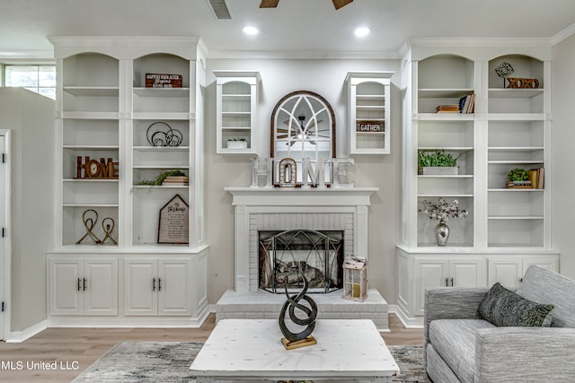
[[11,243],[10,234],[10,132],[0,130],[0,340],[6,340],[10,334],[10,260]]

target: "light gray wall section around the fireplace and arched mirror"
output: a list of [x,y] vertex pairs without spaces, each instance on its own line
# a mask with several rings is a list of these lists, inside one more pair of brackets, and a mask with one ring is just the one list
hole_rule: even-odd
[[[391,154],[355,156],[358,187],[379,187],[372,196],[369,218],[368,281],[394,302],[396,296],[395,245],[400,235],[401,93],[399,60],[208,60],[206,115],[206,237],[209,249],[208,300],[215,303],[234,288],[234,210],[224,187],[248,187],[251,158],[216,153],[216,78],[214,70],[254,70],[261,74],[259,109],[260,156],[270,156],[271,110],[291,91],[315,91],[332,104],[336,118],[337,156],[347,157],[347,89],[351,71],[392,71]],[[363,256],[363,255],[360,255]]]

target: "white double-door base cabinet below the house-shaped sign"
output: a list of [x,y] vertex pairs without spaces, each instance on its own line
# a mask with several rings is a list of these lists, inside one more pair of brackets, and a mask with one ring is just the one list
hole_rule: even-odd
[[190,259],[126,259],[125,315],[190,315],[191,279]]

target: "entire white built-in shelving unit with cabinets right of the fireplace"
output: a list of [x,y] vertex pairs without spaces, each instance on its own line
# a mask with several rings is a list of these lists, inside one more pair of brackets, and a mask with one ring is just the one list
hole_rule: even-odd
[[[431,286],[517,287],[529,265],[559,270],[551,248],[550,57],[541,47],[508,49],[419,41],[404,57],[403,240],[398,246],[398,314],[420,326],[423,292]],[[514,52],[507,54],[507,52]],[[509,89],[495,68],[533,78],[535,89]],[[438,113],[474,94],[471,113]],[[418,153],[442,150],[457,159],[453,175],[422,175]],[[543,188],[508,188],[509,170],[544,169]],[[467,218],[449,220],[447,246],[437,245],[438,221],[420,213],[423,201],[457,200]]]

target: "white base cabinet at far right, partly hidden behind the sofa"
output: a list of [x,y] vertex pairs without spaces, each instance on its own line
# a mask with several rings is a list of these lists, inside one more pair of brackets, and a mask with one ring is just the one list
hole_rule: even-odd
[[489,285],[499,282],[507,288],[517,288],[530,265],[537,265],[559,272],[558,257],[489,257]]

